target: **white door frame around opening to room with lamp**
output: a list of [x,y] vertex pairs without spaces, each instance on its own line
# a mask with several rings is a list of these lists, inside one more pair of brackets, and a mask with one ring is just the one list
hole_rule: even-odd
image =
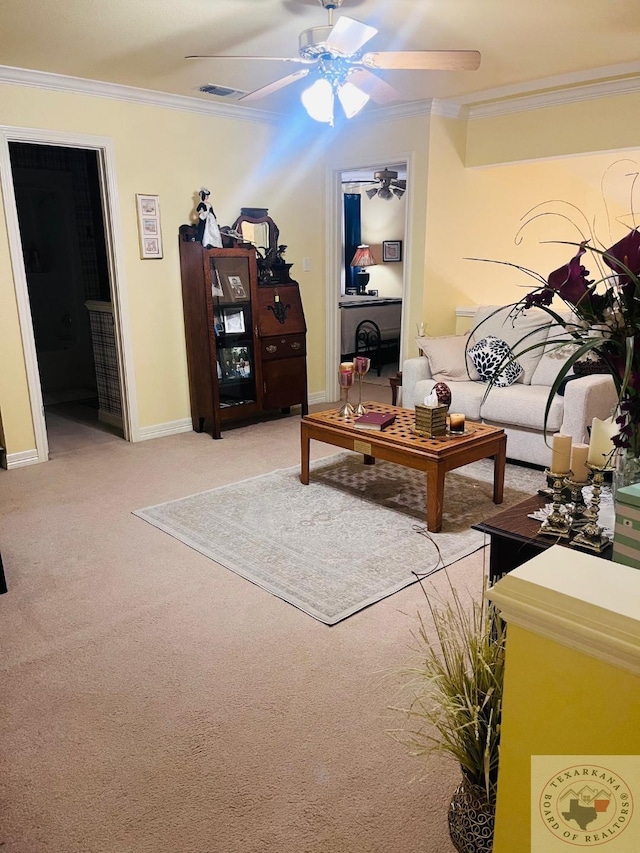
[[325,396],[327,400],[337,400],[340,396],[338,385],[338,364],[340,363],[340,276],[342,274],[342,174],[356,169],[367,169],[371,172],[386,168],[388,163],[407,164],[406,207],[404,218],[404,264],[402,269],[402,318],[400,321],[400,352],[399,362],[404,359],[405,343],[404,330],[408,328],[409,291],[408,270],[411,258],[411,227],[410,212],[412,199],[413,152],[386,154],[383,159],[361,161],[357,164],[345,163],[332,165],[326,171],[325,186],[325,232],[327,236],[327,254],[325,271]]

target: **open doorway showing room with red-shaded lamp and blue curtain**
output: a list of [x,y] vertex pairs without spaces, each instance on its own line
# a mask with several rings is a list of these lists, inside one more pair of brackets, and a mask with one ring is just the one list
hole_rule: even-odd
[[349,169],[340,179],[341,360],[368,355],[366,381],[390,388],[400,360],[407,164]]

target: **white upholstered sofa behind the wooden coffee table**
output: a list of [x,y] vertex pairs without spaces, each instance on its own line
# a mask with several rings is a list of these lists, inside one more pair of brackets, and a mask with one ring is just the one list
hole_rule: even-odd
[[[550,317],[545,311],[530,309],[515,321],[509,315],[510,306],[501,310],[496,305],[480,306],[472,321],[470,338],[452,335],[419,339],[423,354],[402,365],[401,404],[413,408],[424,402],[436,382],[446,382],[451,389],[452,412],[463,412],[471,421],[502,427],[507,434],[508,458],[548,466],[551,435],[561,432],[572,436],[576,444],[588,442],[587,426],[591,426],[593,418],[611,416],[617,401],[615,385],[609,374],[568,381],[564,394],[556,394],[553,400],[545,439],[544,413],[549,391],[567,356],[558,353],[557,343],[552,344],[554,330],[549,330]],[[509,344],[523,372],[513,385],[493,387],[486,394],[487,383],[480,380],[468,349],[488,335]],[[524,335],[527,339],[520,343]],[[546,345],[520,354],[537,341],[546,341]]]

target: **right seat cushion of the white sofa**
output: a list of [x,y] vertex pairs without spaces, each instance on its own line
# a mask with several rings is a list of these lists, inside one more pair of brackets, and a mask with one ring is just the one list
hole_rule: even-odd
[[[482,419],[491,423],[543,430],[548,397],[549,388],[545,385],[517,383],[510,388],[492,388],[482,403]],[[563,411],[564,399],[556,394],[549,411],[547,432],[558,432]]]

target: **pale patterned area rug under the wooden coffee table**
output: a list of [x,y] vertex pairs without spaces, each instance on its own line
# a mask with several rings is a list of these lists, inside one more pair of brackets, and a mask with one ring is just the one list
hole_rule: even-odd
[[485,545],[471,525],[535,493],[543,474],[507,465],[504,503],[491,500],[493,462],[447,474],[440,533],[425,526],[425,476],[339,453],[134,514],[201,554],[335,625]]

